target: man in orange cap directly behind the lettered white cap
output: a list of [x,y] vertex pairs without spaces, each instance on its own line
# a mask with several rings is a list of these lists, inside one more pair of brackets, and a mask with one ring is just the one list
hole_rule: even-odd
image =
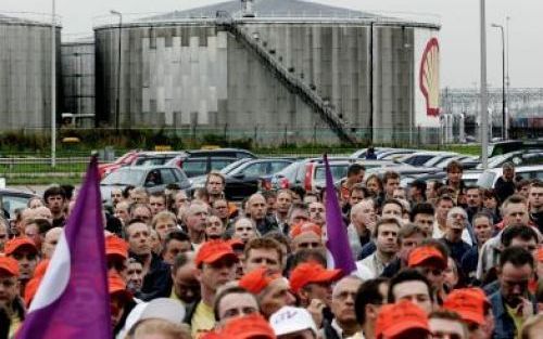
[[261,313],[265,318],[279,311],[282,307],[294,305],[294,296],[289,291],[289,282],[267,268],[260,268],[245,274],[239,286],[252,292],[261,307]]

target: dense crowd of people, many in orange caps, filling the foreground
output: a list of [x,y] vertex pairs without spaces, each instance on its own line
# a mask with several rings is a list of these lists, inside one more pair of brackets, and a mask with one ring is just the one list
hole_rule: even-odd
[[[327,260],[323,192],[224,198],[212,171],[176,186],[113,190],[104,205],[115,338],[543,338],[543,183],[513,164],[492,190],[400,185],[349,168],[337,188],[356,270]],[[0,338],[12,338],[74,207],[51,186],[0,221]],[[89,310],[92,312],[92,310]]]

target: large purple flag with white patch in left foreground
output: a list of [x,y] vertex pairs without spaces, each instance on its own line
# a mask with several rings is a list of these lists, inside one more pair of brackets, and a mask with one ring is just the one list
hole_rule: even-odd
[[92,157],[17,339],[112,337],[100,201],[98,160]]

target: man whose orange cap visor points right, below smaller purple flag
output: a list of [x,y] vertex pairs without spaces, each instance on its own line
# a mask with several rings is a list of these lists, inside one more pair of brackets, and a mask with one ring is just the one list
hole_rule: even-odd
[[316,262],[304,262],[290,273],[290,288],[300,298],[300,303],[304,308],[314,299],[330,307],[331,285],[340,277],[341,270],[326,270]]

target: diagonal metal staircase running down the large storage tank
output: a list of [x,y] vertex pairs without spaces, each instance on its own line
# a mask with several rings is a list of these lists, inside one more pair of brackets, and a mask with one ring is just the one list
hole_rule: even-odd
[[356,135],[349,131],[346,123],[339,117],[338,113],[318,95],[308,84],[300,80],[293,73],[289,71],[258,39],[253,38],[251,34],[242,29],[241,25],[226,12],[217,12],[217,25],[224,27],[232,34],[238,41],[242,42],[249,50],[253,51],[263,64],[279,79],[287,89],[302,99],[314,112],[318,113],[320,118],[330,127],[342,143],[356,145],[358,143]]

